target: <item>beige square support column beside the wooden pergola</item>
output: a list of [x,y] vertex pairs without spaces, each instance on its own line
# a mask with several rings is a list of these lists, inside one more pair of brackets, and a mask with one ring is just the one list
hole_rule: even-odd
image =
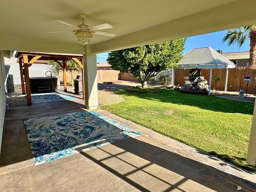
[[96,109],[98,106],[98,82],[96,54],[92,54],[91,46],[84,46],[84,88],[85,105],[87,109]]

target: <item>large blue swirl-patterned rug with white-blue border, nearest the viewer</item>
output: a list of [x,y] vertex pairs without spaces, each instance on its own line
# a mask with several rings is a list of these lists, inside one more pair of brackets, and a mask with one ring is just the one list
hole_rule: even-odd
[[24,119],[34,165],[141,135],[94,111]]

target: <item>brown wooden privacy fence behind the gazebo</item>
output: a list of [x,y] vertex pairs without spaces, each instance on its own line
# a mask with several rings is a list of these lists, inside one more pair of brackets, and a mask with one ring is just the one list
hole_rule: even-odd
[[[209,82],[210,69],[201,69],[201,76]],[[175,84],[179,82],[180,86],[184,84],[184,77],[188,76],[189,69],[175,69]],[[223,90],[225,88],[225,79],[226,79],[226,69],[215,68],[212,69],[212,76],[217,75],[222,77],[222,81],[220,81],[216,89]],[[234,69],[228,70],[228,85],[231,87],[227,88],[227,91],[237,91],[240,89],[246,90],[246,82],[244,82],[244,77],[251,77],[252,81],[248,82],[247,92],[254,93],[256,92],[256,81],[254,78],[256,77],[256,67],[236,67]],[[209,83],[208,83],[209,84]],[[212,80],[211,89],[214,87],[214,80]]]

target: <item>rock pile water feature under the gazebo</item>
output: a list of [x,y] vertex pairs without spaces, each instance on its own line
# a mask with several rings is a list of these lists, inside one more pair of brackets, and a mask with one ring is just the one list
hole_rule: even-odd
[[184,77],[184,85],[181,92],[194,94],[207,94],[209,90],[208,82],[201,76],[201,69],[190,69],[189,76]]

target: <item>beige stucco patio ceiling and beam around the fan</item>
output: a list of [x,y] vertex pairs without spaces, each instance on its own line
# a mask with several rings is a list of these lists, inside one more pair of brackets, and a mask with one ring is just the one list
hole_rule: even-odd
[[183,38],[256,23],[255,0],[1,0],[0,50],[23,50],[81,54],[82,45],[70,26],[109,23],[102,30],[115,37],[94,35],[92,53],[107,52]]

